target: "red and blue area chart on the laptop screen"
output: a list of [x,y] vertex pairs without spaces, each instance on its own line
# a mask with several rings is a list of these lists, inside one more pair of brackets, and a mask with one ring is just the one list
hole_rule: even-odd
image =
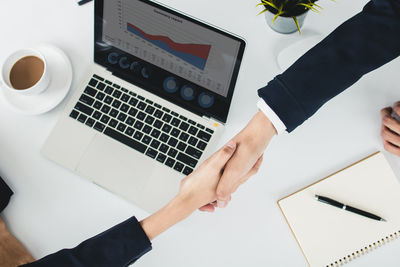
[[[210,45],[175,43],[165,36],[149,35],[130,23],[127,24],[127,30],[201,70],[204,70],[206,66],[211,50]],[[177,51],[177,49],[185,52]]]

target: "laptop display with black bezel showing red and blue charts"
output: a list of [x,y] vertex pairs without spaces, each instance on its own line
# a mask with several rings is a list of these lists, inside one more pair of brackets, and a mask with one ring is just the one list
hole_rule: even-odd
[[245,42],[147,0],[96,0],[95,62],[198,115],[225,122]]

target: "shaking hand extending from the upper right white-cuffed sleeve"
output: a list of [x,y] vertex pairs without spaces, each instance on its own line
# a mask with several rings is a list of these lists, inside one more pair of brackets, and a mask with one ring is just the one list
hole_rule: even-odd
[[[217,187],[218,207],[226,207],[231,199],[231,194],[250,178],[247,173],[256,164],[261,164],[262,155],[274,135],[276,135],[275,127],[264,113],[259,111],[249,124],[232,139],[232,142],[237,144],[237,148],[227,163]],[[200,210],[209,211],[210,205],[206,205]]]

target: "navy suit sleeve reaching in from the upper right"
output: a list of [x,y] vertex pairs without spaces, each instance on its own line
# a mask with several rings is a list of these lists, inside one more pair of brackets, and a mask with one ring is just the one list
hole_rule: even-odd
[[258,91],[289,132],[400,55],[400,0],[373,0]]

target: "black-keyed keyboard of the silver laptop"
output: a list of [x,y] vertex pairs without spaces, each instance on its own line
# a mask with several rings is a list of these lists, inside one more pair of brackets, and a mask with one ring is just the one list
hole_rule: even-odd
[[93,75],[70,117],[189,175],[213,130]]

